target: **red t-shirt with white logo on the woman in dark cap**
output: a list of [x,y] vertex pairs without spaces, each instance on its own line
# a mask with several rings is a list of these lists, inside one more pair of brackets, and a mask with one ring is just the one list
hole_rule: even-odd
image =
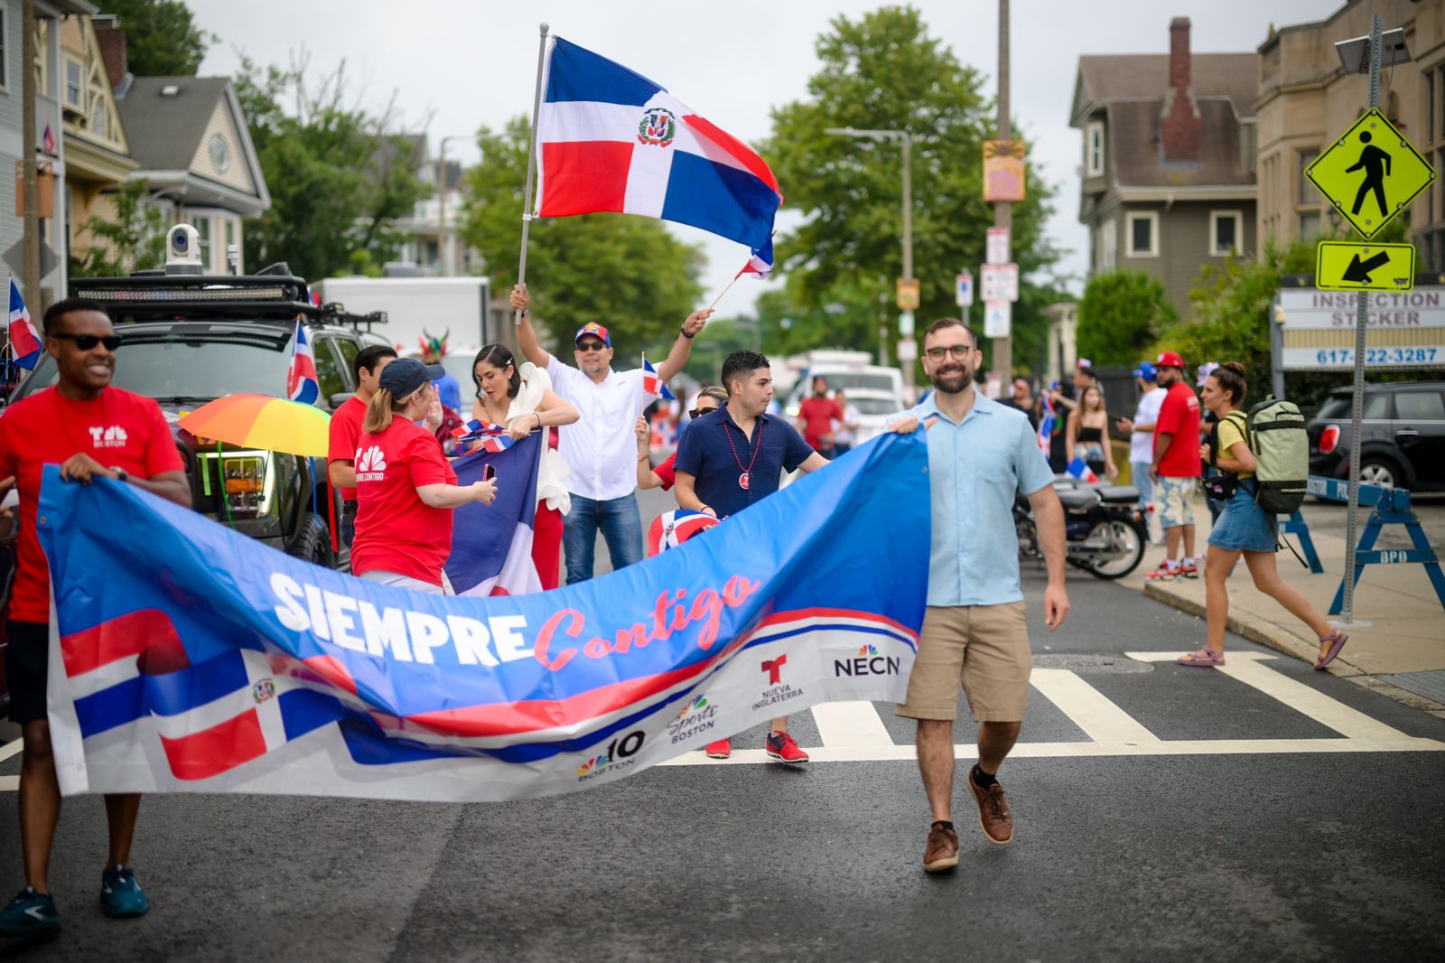
[[351,571],[393,571],[442,584],[451,555],[452,509],[434,509],[416,489],[457,484],[436,437],[405,418],[374,435],[361,432],[353,453],[357,470],[357,536]]

